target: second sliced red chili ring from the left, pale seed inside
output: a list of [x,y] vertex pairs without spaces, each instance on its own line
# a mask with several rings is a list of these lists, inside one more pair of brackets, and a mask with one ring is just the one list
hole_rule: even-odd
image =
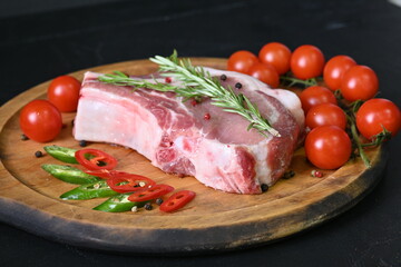
[[134,192],[138,190],[145,190],[156,182],[144,176],[134,174],[119,174],[115,177],[106,180],[107,185],[117,192]]

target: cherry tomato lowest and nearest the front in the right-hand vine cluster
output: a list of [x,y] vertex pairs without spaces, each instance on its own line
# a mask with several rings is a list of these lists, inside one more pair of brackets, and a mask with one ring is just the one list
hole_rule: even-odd
[[306,158],[317,168],[336,169],[351,156],[351,140],[336,126],[319,126],[305,139]]

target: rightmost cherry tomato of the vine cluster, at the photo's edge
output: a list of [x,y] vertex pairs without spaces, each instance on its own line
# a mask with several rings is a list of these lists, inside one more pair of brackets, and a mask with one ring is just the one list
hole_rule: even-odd
[[368,139],[383,130],[383,127],[395,136],[401,127],[400,109],[390,100],[374,98],[364,102],[356,112],[358,130]]

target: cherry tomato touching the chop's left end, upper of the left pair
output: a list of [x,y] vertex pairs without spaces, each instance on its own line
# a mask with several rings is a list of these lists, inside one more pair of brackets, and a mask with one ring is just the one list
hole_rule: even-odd
[[80,87],[76,78],[60,76],[51,81],[47,96],[61,112],[72,112],[77,110]]

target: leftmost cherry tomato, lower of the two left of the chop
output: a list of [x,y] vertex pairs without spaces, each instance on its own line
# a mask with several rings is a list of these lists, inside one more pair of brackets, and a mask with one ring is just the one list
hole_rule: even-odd
[[62,128],[60,111],[47,100],[27,103],[21,110],[19,122],[22,132],[38,142],[51,141]]

